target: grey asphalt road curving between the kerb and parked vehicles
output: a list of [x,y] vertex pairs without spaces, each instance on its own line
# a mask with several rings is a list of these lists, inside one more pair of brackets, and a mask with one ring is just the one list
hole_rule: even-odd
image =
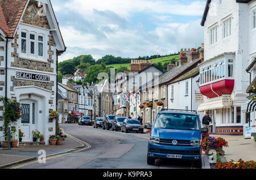
[[47,158],[38,162],[19,165],[22,169],[161,169],[193,168],[189,161],[156,160],[147,165],[148,134],[136,134],[102,130],[93,126],[75,124],[60,125],[64,132],[89,144],[79,152]]

